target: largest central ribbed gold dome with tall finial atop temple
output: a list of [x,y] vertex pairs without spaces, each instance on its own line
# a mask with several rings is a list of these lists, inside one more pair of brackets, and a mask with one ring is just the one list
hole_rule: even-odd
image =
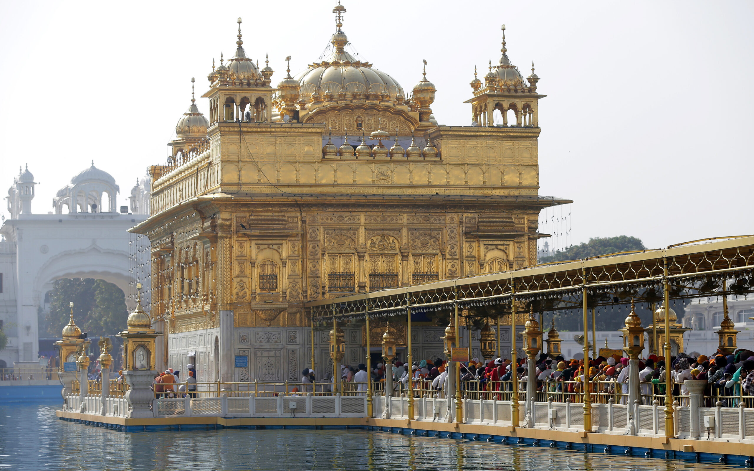
[[[330,38],[330,51],[319,63],[312,63],[304,72],[296,75],[301,84],[301,98],[306,103],[314,103],[312,95],[330,88],[338,95],[336,100],[363,100],[366,102],[385,101],[393,105],[403,103],[406,94],[391,75],[372,67],[371,63],[358,60],[345,50],[348,36],[342,31],[343,5],[333,8],[336,14],[336,32]],[[345,94],[339,94],[345,88]]]

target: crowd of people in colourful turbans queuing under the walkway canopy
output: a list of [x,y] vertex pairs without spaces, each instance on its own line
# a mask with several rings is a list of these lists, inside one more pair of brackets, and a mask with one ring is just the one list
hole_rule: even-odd
[[[421,360],[411,365],[414,389],[429,389],[440,392],[446,386],[448,371],[446,360]],[[625,356],[598,356],[588,358],[585,368],[580,359],[566,360],[562,356],[550,358],[541,353],[535,362],[537,392],[562,392],[579,394],[584,392],[585,374],[588,375],[588,390],[591,393],[605,392],[618,396],[618,402],[627,404],[629,383],[629,359]],[[664,396],[666,374],[670,370],[673,396],[688,396],[685,380],[706,380],[708,385],[704,396],[719,398],[723,406],[735,407],[740,396],[754,396],[754,352],[738,349],[735,352],[718,351],[711,356],[693,352],[689,356],[679,352],[670,359],[670,368],[664,356],[649,355],[639,359],[640,393],[644,404],[651,404],[652,396]],[[513,374],[517,375],[521,391],[526,391],[528,380],[526,358],[516,360],[496,358],[481,362],[472,359],[461,364],[461,389],[477,391],[510,391]],[[372,368],[371,378],[382,383],[386,374],[392,375],[394,392],[405,392],[408,387],[409,365],[396,360],[390,371],[379,363]],[[314,371],[304,370],[302,383],[311,383]],[[340,381],[346,383],[366,383],[366,366],[358,368],[341,365]],[[333,377],[331,382],[338,379]],[[378,386],[379,387],[379,386]],[[708,399],[707,402],[710,402]],[[713,403],[707,405],[714,405]]]

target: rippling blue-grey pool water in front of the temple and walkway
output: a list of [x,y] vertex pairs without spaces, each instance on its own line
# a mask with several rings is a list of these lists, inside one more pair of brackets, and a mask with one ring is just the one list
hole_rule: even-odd
[[670,471],[713,463],[365,430],[225,429],[121,433],[57,420],[59,405],[0,405],[0,467],[10,469],[499,469]]

